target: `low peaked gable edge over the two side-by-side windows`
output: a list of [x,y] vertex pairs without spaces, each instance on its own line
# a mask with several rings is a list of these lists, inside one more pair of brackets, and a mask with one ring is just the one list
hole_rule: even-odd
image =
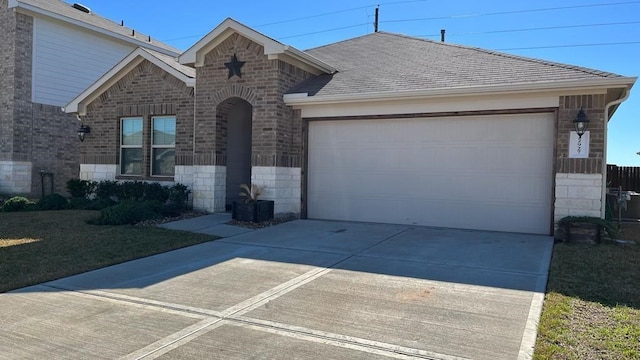
[[114,66],[109,72],[93,83],[75,99],[71,100],[63,110],[66,113],[86,114],[86,106],[97,99],[107,89],[126,76],[131,70],[148,60],[173,77],[184,82],[188,87],[195,86],[195,69],[179,64],[175,58],[153,50],[137,48]]

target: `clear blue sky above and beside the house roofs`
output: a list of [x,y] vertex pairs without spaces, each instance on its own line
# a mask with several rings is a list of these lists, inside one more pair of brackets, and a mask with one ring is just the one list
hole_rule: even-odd
[[[69,1],[71,2],[71,1]],[[186,50],[227,17],[300,50],[380,30],[640,75],[640,1],[81,0],[94,12]],[[291,21],[294,20],[294,21]],[[640,84],[609,123],[607,162],[640,166]]]

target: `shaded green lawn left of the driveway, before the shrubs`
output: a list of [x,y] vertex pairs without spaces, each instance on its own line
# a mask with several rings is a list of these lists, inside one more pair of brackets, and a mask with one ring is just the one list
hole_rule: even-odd
[[216,239],[154,226],[85,223],[99,214],[0,213],[0,292]]

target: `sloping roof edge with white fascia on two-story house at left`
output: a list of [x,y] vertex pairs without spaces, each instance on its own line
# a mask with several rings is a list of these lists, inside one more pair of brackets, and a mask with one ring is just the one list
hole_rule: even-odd
[[172,56],[180,54],[180,50],[152,39],[148,35],[122,26],[95,13],[85,13],[60,0],[9,0],[9,8],[16,8],[18,11],[30,15],[57,19],[130,43],[134,47],[144,47]]

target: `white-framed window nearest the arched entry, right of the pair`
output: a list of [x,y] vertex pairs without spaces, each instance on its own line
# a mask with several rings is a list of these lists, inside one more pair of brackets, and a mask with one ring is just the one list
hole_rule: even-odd
[[151,175],[173,176],[176,167],[176,117],[152,117],[151,130]]

